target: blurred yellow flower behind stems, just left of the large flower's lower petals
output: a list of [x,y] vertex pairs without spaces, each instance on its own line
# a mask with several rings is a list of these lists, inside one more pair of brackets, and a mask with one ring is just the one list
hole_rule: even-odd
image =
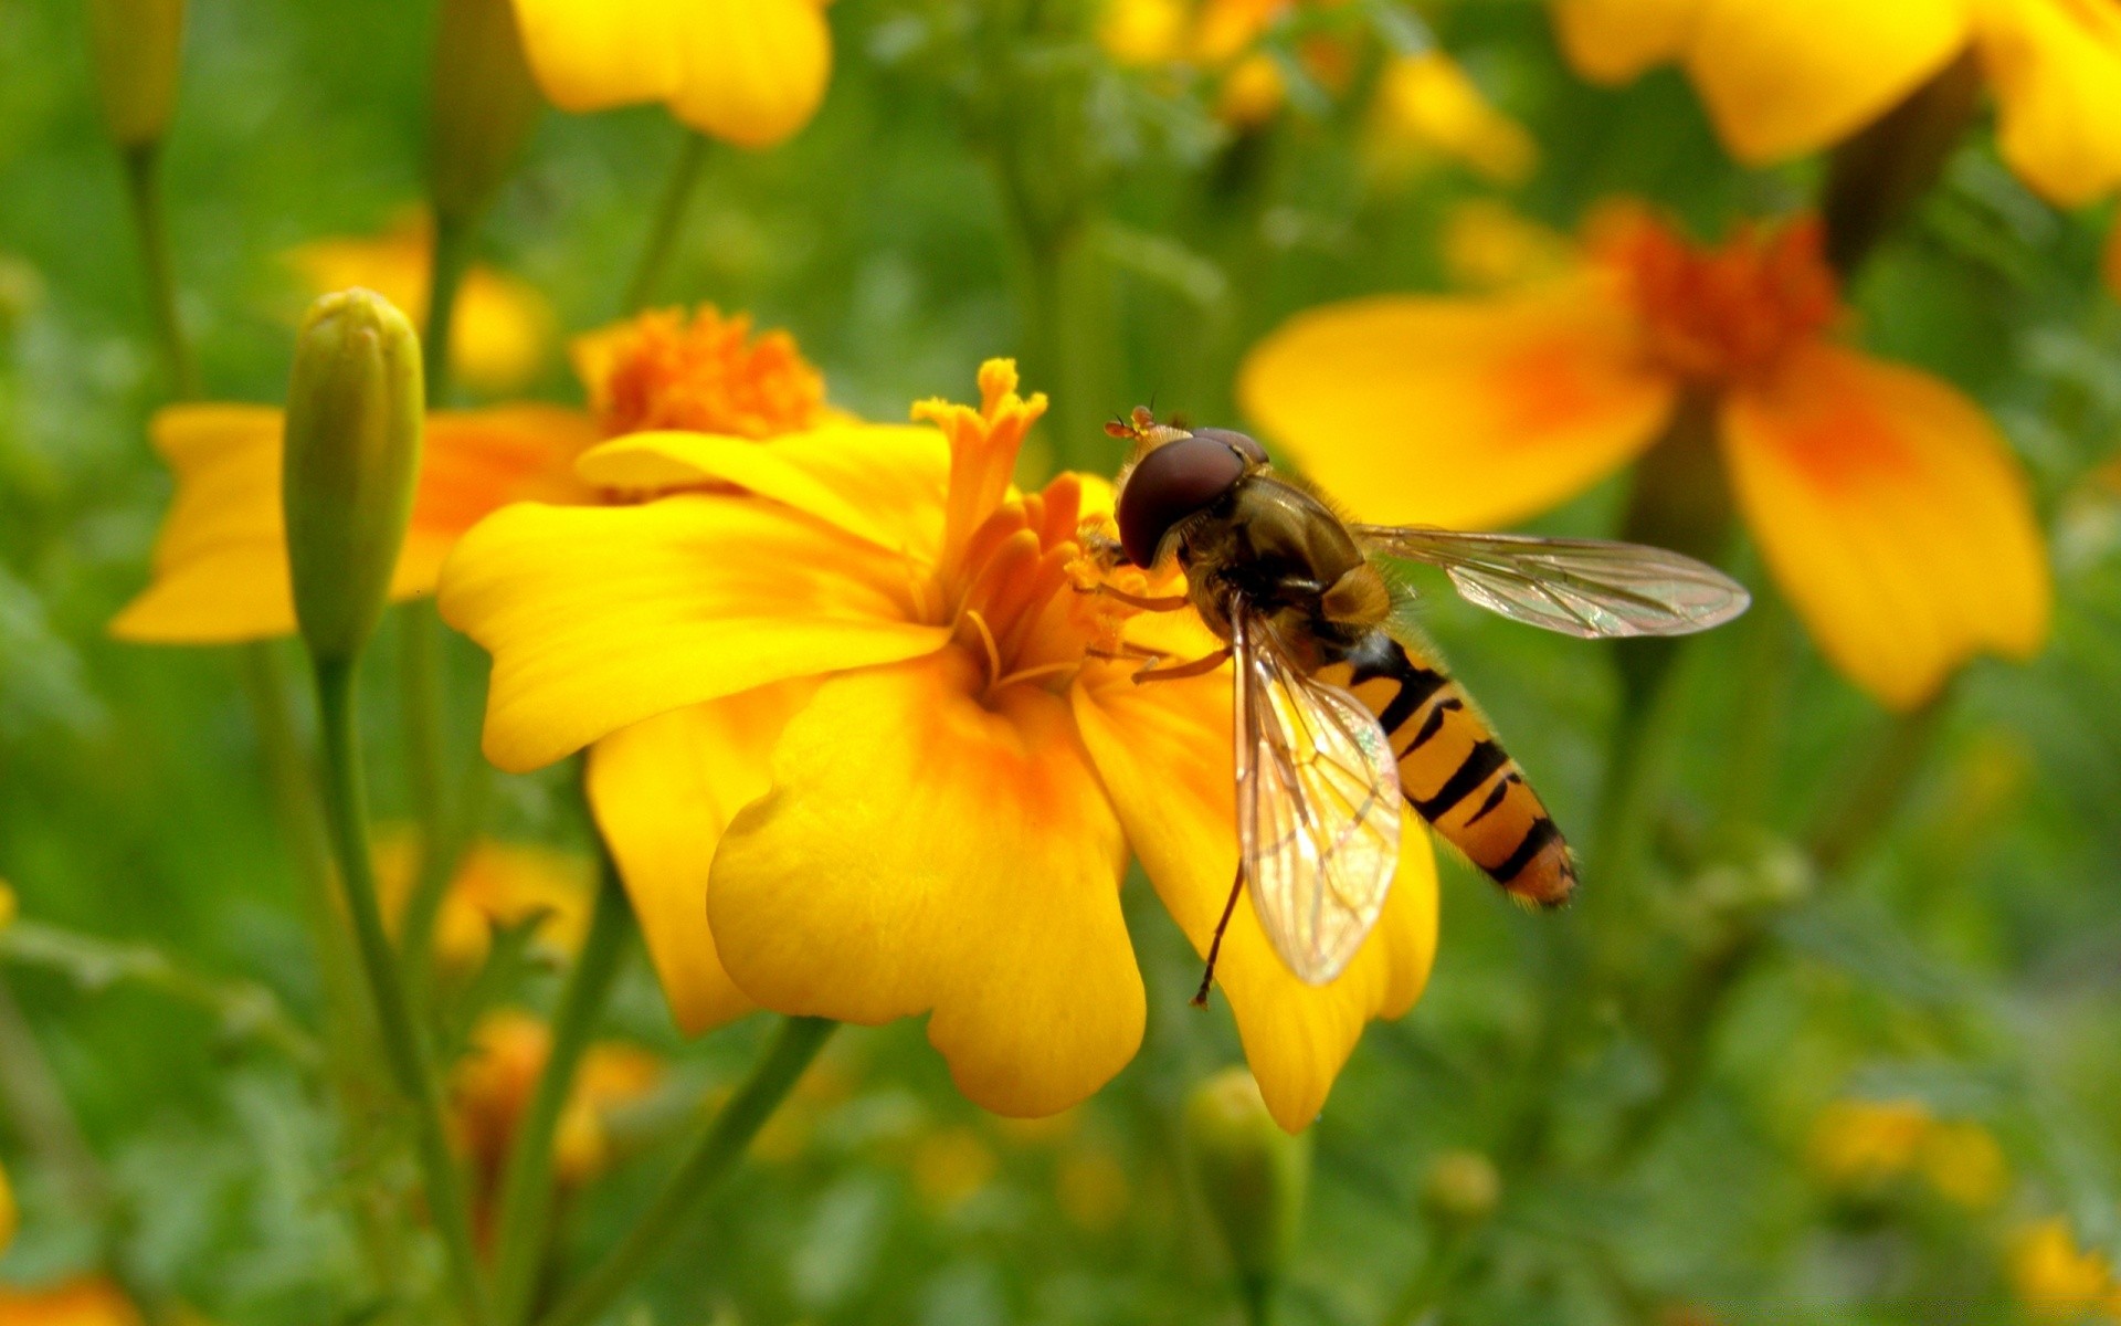
[[[405,912],[418,868],[416,834],[378,830],[375,885],[392,925]],[[590,929],[592,889],[594,868],[583,857],[515,842],[473,842],[435,917],[435,955],[460,972],[475,970],[486,961],[494,929],[537,917],[543,917],[539,938],[575,953]]]

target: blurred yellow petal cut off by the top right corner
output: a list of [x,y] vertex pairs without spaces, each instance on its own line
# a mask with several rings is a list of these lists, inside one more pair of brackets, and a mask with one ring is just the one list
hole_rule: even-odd
[[2002,159],[2072,208],[2121,187],[2121,6],[1989,0],[1981,64],[2002,104]]

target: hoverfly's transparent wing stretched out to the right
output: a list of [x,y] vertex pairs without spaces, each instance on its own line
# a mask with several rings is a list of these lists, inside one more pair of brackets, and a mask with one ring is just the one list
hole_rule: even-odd
[[1370,549],[1442,566],[1468,600],[1563,634],[1693,634],[1746,611],[1752,596],[1722,571],[1642,543],[1461,535],[1357,524]]

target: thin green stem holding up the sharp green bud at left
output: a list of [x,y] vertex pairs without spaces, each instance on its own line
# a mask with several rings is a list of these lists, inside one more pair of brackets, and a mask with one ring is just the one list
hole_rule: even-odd
[[316,709],[325,745],[325,813],[339,855],[339,883],[354,921],[361,967],[375,1001],[384,1059],[399,1091],[411,1103],[426,1201],[464,1322],[486,1326],[490,1309],[471,1243],[471,1209],[441,1112],[441,1086],[428,1059],[426,1040],[411,1018],[405,982],[384,934],[375,897],[375,863],[369,857],[367,783],[361,777],[361,732],[354,723],[354,660],[316,662]]

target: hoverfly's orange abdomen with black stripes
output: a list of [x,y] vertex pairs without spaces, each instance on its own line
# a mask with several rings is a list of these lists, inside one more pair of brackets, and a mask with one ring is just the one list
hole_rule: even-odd
[[1355,694],[1400,760],[1406,802],[1521,902],[1561,906],[1576,863],[1525,772],[1495,740],[1466,690],[1383,630],[1317,679]]

